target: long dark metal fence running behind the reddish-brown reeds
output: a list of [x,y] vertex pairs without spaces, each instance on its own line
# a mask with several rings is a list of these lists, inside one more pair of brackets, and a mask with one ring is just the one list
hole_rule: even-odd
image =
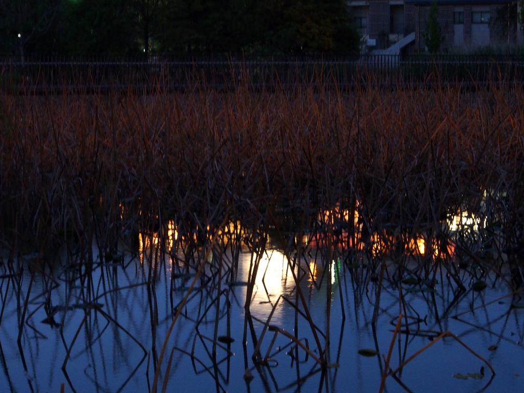
[[524,82],[524,56],[363,55],[344,57],[201,56],[108,58],[0,57],[0,88],[63,89],[286,88],[297,84],[352,88]]

